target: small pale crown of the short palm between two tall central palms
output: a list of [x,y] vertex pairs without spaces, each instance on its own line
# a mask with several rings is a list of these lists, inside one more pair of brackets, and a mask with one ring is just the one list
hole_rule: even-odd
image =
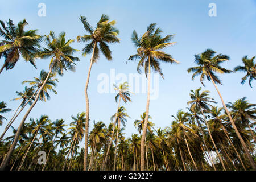
[[123,82],[122,84],[120,84],[119,86],[114,85],[114,90],[116,90],[118,92],[117,96],[115,96],[115,102],[118,101],[118,98],[121,97],[123,102],[127,102],[127,101],[130,101],[131,102],[131,99],[130,99],[130,91],[129,91],[129,85],[128,85],[128,82]]

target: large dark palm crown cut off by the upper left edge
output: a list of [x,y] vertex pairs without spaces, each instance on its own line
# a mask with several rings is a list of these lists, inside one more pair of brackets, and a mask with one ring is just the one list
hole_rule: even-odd
[[0,42],[0,58],[5,57],[5,63],[0,69],[0,74],[3,68],[13,69],[20,56],[24,60],[30,61],[35,66],[34,53],[40,47],[42,36],[37,34],[38,30],[24,31],[24,27],[28,24],[26,19],[19,22],[16,26],[13,21],[9,19],[7,26],[0,20],[0,37],[4,40]]

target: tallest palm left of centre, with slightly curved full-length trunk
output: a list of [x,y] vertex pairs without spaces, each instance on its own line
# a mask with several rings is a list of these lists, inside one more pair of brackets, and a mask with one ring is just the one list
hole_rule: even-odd
[[[109,22],[109,16],[102,14],[98,21],[96,28],[92,28],[87,22],[85,16],[81,16],[80,20],[84,24],[84,28],[89,35],[77,36],[78,42],[89,42],[82,49],[82,55],[92,53],[90,59],[89,71],[85,84],[85,100],[86,100],[86,123],[85,123],[85,151],[84,151],[84,170],[87,170],[87,156],[88,156],[88,129],[89,129],[89,98],[88,98],[88,84],[90,79],[90,71],[93,63],[100,58],[100,52],[108,59],[112,60],[112,52],[109,49],[108,43],[119,43],[117,35],[119,31],[114,27],[115,21]],[[100,47],[100,49],[98,48]]]

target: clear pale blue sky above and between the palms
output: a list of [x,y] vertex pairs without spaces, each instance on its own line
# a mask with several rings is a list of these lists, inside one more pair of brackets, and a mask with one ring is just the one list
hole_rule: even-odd
[[[1,0],[3,1],[3,0]],[[38,16],[38,4],[46,4],[46,17]],[[208,5],[216,3],[217,17],[210,17]],[[173,39],[177,42],[165,51],[170,53],[180,64],[161,64],[164,73],[164,80],[159,77],[159,97],[150,102],[150,115],[155,127],[166,127],[171,124],[171,115],[175,115],[178,109],[185,109],[189,101],[189,92],[202,86],[199,77],[195,81],[191,80],[187,69],[195,65],[194,55],[203,52],[207,48],[212,48],[218,53],[230,56],[230,61],[223,64],[225,68],[233,69],[236,65],[242,64],[242,57],[256,55],[256,1],[255,0],[196,0],[196,1],[127,1],[127,0],[104,0],[104,1],[6,1],[1,2],[0,19],[9,18],[18,23],[24,18],[29,25],[27,29],[38,29],[39,34],[47,35],[49,31],[59,34],[61,31],[67,33],[67,38],[75,39],[78,35],[86,32],[79,20],[80,15],[86,16],[89,23],[95,27],[101,14],[108,14],[110,19],[116,20],[116,27],[119,29],[120,44],[110,46],[113,51],[113,61],[107,61],[101,55],[97,64],[93,65],[89,82],[90,101],[90,125],[92,121],[103,121],[106,125],[110,122],[110,117],[117,109],[114,93],[100,94],[97,86],[100,81],[98,75],[106,73],[110,76],[110,69],[115,69],[115,73],[137,73],[137,63],[126,61],[130,55],[136,53],[136,49],[131,43],[131,34],[136,30],[139,34],[146,31],[150,23],[157,25],[164,31],[163,34],[175,34]],[[1,38],[0,38],[1,39]],[[84,44],[73,43],[76,49],[82,49]],[[59,77],[57,85],[58,94],[51,93],[51,100],[38,102],[27,118],[39,118],[46,114],[52,121],[63,118],[69,124],[71,115],[76,115],[86,110],[84,88],[88,73],[90,55],[81,56],[81,52],[76,53],[80,57],[77,63],[76,72],[65,72],[63,77]],[[1,65],[3,60],[0,60]],[[38,69],[32,67],[20,59],[15,68],[10,71],[3,70],[0,75],[0,101],[7,102],[10,109],[16,110],[19,101],[10,101],[16,97],[16,91],[23,91],[21,82],[32,80],[38,77],[40,70],[48,71],[49,60],[37,60]],[[218,88],[224,97],[225,102],[233,102],[238,98],[247,97],[251,103],[256,103],[255,87],[253,82],[251,89],[248,82],[241,85],[241,78],[244,73],[232,73],[221,75],[223,85]],[[213,97],[221,106],[220,98],[211,82],[205,81],[205,88],[210,90],[210,97]],[[130,137],[131,133],[136,133],[133,122],[140,118],[146,110],[146,94],[133,94],[133,102],[125,104],[130,119],[127,119],[125,133]],[[18,127],[27,109],[24,109],[20,117],[16,119],[14,127]],[[13,112],[4,114],[8,119]],[[2,133],[5,125],[0,127]],[[92,129],[92,127],[90,127]],[[90,130],[89,129],[89,130]],[[8,135],[11,133],[9,132]],[[83,146],[83,143],[80,143]]]

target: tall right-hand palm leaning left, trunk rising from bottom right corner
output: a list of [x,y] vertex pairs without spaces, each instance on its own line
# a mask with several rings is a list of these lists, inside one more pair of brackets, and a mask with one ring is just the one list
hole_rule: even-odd
[[217,72],[217,73],[231,73],[232,72],[231,70],[222,68],[220,65],[221,63],[228,61],[229,56],[222,55],[222,54],[218,54],[218,55],[214,56],[215,54],[216,54],[216,52],[214,52],[212,49],[207,49],[200,55],[195,55],[195,63],[197,64],[197,67],[189,68],[187,71],[188,71],[188,73],[193,72],[192,80],[194,80],[194,78],[197,75],[201,75],[200,81],[201,81],[201,84],[203,84],[203,85],[204,85],[203,81],[204,81],[205,77],[207,77],[208,81],[212,81],[214,87],[216,88],[216,90],[218,92],[218,95],[221,98],[222,105],[224,106],[224,109],[225,109],[226,113],[228,114],[229,120],[237,134],[237,137],[240,139],[243,150],[245,151],[247,158],[250,160],[251,166],[253,167],[254,170],[256,170],[256,165],[254,163],[254,160],[251,157],[249,150],[246,147],[245,141],[242,139],[241,134],[237,130],[237,127],[236,127],[236,125],[228,111],[228,108],[226,107],[226,104],[221,96],[221,93],[218,90],[217,85],[216,85],[216,84],[221,84],[221,81],[218,78],[218,76],[215,75],[214,72]]

